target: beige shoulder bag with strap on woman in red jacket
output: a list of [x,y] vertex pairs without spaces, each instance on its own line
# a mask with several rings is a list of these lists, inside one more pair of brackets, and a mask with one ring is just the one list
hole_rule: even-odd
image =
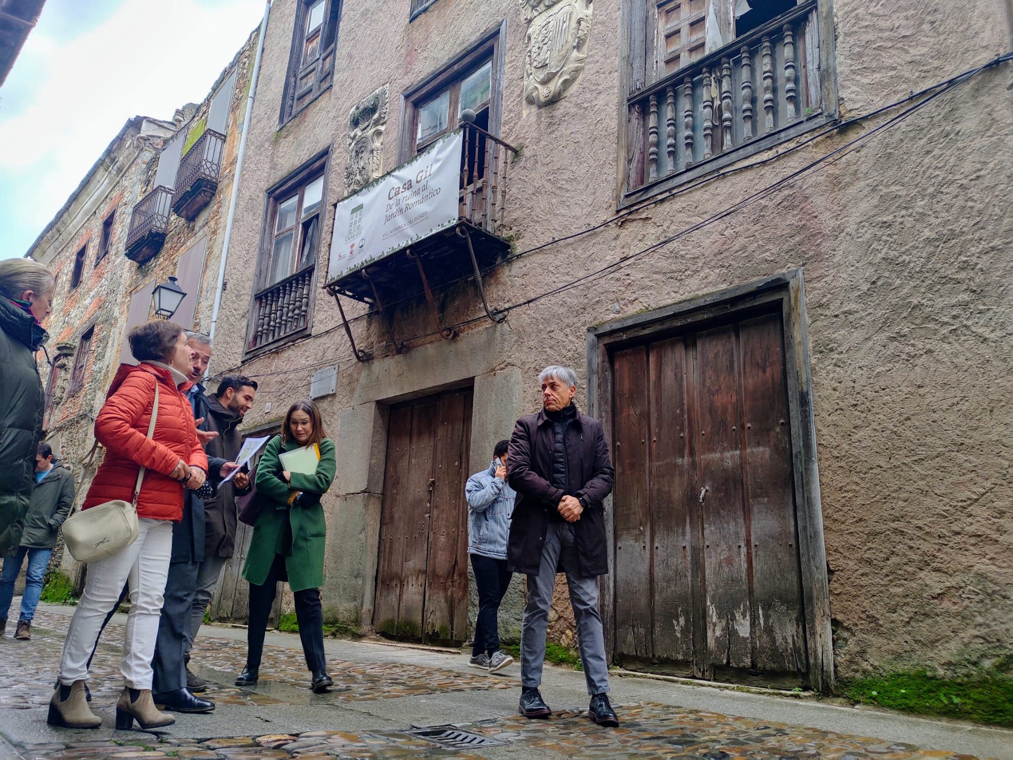
[[[155,403],[151,408],[151,423],[148,438],[155,435],[155,420],[158,419],[158,381],[155,381]],[[94,562],[112,556],[121,549],[137,540],[140,524],[137,521],[137,498],[141,492],[145,468],[137,473],[134,485],[134,501],[96,504],[88,510],[79,510],[63,524],[64,543],[70,555],[79,562]]]

